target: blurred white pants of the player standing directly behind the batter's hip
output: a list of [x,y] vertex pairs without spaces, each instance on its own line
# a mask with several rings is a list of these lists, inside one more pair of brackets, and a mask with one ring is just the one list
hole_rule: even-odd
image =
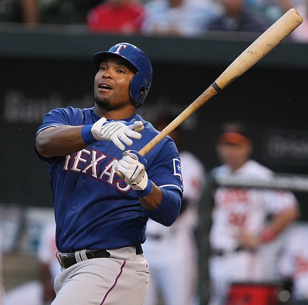
[[150,271],[144,305],[190,305],[195,301],[197,250],[190,232],[172,232],[143,245]]

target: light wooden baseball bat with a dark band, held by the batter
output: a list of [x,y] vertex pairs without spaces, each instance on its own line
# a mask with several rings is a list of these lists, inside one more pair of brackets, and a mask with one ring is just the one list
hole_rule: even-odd
[[[155,147],[172,130],[176,129],[191,114],[196,112],[203,104],[218,92],[239,78],[249,68],[255,65],[269,51],[274,49],[303,22],[302,16],[294,9],[284,13],[271,27],[249,45],[194,102],[192,102],[180,115],[169,123],[156,137],[150,140],[138,152],[144,156]],[[118,175],[123,175],[117,171]]]

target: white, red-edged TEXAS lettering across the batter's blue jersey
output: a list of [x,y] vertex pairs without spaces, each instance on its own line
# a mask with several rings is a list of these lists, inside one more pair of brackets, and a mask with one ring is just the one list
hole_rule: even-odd
[[103,161],[105,162],[106,159],[109,159],[109,155],[106,155],[98,150],[89,150],[85,148],[79,152],[67,155],[65,157],[63,170],[83,173],[111,186],[115,186],[119,191],[128,191],[130,189],[130,185],[125,183],[123,180],[119,180],[114,184],[115,176],[117,175],[114,170],[114,165],[119,159],[110,159],[110,161],[101,169],[100,164]]

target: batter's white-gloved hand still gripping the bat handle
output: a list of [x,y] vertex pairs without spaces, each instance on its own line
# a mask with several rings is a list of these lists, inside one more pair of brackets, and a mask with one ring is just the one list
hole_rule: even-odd
[[124,180],[136,191],[143,191],[148,183],[145,171],[146,159],[134,150],[127,150],[115,164],[115,169],[122,173]]

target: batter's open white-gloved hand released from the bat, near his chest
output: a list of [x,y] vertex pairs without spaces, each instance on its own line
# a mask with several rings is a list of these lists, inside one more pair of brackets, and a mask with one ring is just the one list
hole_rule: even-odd
[[141,121],[107,121],[106,118],[101,118],[93,124],[91,132],[95,139],[112,141],[119,149],[125,150],[124,144],[132,145],[130,138],[140,139],[143,129]]

